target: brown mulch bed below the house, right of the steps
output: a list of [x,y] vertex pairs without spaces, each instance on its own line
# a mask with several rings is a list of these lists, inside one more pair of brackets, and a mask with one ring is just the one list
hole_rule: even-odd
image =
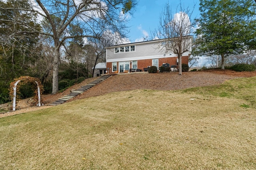
[[74,100],[126,90],[179,90],[191,87],[210,86],[234,78],[251,76],[256,76],[256,72],[208,70],[183,72],[182,75],[179,75],[178,72],[116,75],[108,78],[86,93],[77,96]]

